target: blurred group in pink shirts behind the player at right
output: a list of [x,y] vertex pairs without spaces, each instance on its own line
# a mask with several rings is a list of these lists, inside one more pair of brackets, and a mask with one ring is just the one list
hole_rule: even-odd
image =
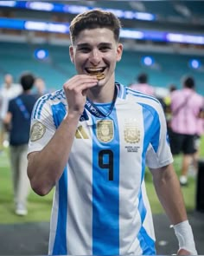
[[155,96],[163,105],[167,121],[169,143],[173,155],[182,155],[180,184],[188,186],[188,176],[196,176],[201,150],[201,136],[204,133],[204,97],[196,92],[194,77],[184,75],[181,88],[169,85],[169,93],[161,97],[149,83],[146,73],[137,76],[137,82],[130,85],[144,94]]

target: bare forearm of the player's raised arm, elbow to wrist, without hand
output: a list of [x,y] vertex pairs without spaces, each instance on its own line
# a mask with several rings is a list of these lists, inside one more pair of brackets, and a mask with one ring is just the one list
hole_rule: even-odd
[[45,148],[40,152],[29,154],[28,175],[36,194],[48,194],[61,178],[78,122],[78,116],[68,115]]

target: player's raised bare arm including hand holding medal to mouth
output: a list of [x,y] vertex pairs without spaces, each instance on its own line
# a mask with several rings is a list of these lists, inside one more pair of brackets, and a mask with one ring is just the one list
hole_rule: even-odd
[[80,115],[84,110],[86,90],[95,86],[97,81],[94,76],[75,75],[64,84],[68,102],[67,115],[47,145],[43,145],[41,151],[34,150],[28,155],[29,180],[36,194],[48,194],[61,178],[73,145]]

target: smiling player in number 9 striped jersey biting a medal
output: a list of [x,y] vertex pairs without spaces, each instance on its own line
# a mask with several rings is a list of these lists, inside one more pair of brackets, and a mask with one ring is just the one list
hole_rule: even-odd
[[35,104],[28,174],[35,193],[55,186],[49,254],[155,254],[145,159],[175,225],[179,254],[196,254],[171,165],[163,109],[115,82],[123,46],[111,12],[73,19],[70,57],[78,75]]

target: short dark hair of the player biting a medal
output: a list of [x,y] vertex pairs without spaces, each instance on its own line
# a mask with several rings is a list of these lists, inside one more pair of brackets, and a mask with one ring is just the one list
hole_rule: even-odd
[[117,16],[110,11],[105,10],[88,10],[73,18],[69,31],[72,43],[75,42],[76,36],[82,30],[92,30],[97,28],[107,28],[112,30],[116,42],[119,41],[119,32],[121,23]]

